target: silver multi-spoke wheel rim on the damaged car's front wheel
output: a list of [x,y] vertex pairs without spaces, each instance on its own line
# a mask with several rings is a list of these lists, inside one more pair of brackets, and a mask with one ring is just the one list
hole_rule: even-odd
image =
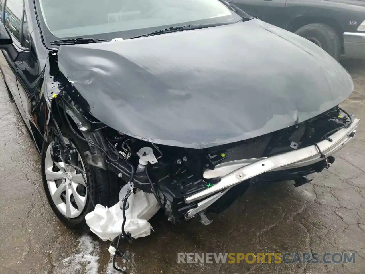
[[[72,144],[65,137],[64,140],[66,144]],[[50,195],[62,215],[68,218],[77,218],[86,206],[88,195],[86,183],[80,171],[76,171],[75,168],[64,162],[55,163],[52,161],[52,144],[49,144],[45,157],[45,176]],[[80,168],[85,170],[85,164],[79,151],[77,151],[77,158]],[[55,167],[59,171],[55,171]],[[87,180],[86,176],[85,179]],[[80,193],[80,185],[84,187],[84,193]]]

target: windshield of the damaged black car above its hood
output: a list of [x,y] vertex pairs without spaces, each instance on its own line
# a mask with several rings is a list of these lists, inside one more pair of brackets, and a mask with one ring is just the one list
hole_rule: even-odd
[[241,19],[219,0],[39,0],[37,6],[48,42],[72,37],[127,39],[166,26]]

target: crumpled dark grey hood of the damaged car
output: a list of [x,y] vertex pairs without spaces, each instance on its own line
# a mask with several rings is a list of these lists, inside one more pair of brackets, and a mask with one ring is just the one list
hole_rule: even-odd
[[58,64],[106,125],[187,148],[295,125],[353,91],[350,75],[326,52],[258,19],[61,46]]

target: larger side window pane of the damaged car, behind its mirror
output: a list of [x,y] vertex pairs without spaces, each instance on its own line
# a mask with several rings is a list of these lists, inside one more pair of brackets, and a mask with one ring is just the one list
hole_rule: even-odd
[[5,26],[20,43],[23,0],[7,0],[5,2]]

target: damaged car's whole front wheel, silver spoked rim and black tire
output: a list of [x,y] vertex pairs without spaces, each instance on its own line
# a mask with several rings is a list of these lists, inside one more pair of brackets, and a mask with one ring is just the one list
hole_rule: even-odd
[[50,153],[52,143],[45,141],[41,153],[43,186],[59,220],[70,229],[84,232],[89,229],[85,215],[94,209],[93,202],[108,208],[115,205],[121,184],[111,178],[108,172],[87,164],[84,159],[84,152],[88,150],[87,143],[69,130],[61,131],[65,142],[76,147],[78,167],[86,171],[86,182],[81,172],[70,165],[64,162],[54,163]]

